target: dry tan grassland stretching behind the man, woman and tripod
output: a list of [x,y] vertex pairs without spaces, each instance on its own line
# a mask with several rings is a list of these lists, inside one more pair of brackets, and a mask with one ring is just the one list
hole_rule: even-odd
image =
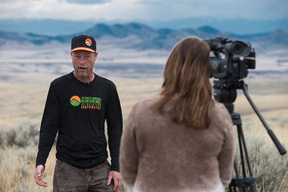
[[[13,128],[22,127],[23,124],[32,124],[39,129],[42,112],[49,88],[50,82],[56,75],[40,76],[18,76],[23,78],[21,82],[8,83],[0,82],[0,131],[11,132]],[[42,79],[37,80],[35,79]],[[117,85],[120,96],[124,121],[127,118],[133,104],[146,96],[156,94],[161,89],[162,79],[119,79],[111,78]],[[288,148],[288,88],[287,80],[249,80],[248,91],[256,106],[261,111],[270,128],[273,130],[280,142]],[[261,176],[261,172],[278,173],[280,170],[287,173],[288,165],[287,154],[278,155],[277,149],[271,142],[265,128],[259,121],[258,117],[251,109],[247,99],[238,91],[237,100],[235,101],[235,111],[239,112],[242,117],[244,134],[249,147],[249,155],[254,158],[261,159],[261,163],[253,164],[254,175],[259,178],[257,185],[264,185],[265,178],[272,179],[270,176]],[[27,123],[29,122],[29,123]],[[21,126],[20,126],[21,125]],[[20,129],[17,129],[20,130]],[[24,130],[24,129],[23,129]],[[44,179],[48,181],[49,186],[43,188],[38,186],[34,181],[35,158],[37,154],[37,145],[34,142],[24,142],[15,132],[15,142],[24,143],[25,147],[19,145],[7,144],[1,141],[0,148],[0,191],[52,191],[52,177],[55,165],[55,148],[51,151],[46,164]],[[3,135],[3,134],[2,134]],[[10,135],[11,136],[11,135]],[[27,138],[27,137],[25,137]],[[28,139],[29,140],[29,139]],[[3,144],[6,143],[6,144]],[[252,157],[252,156],[255,157]],[[281,164],[282,163],[282,164]],[[273,171],[271,171],[271,169]],[[283,170],[282,170],[283,169]],[[274,184],[264,185],[263,191],[285,191],[288,189],[287,175],[277,175],[274,178]],[[123,191],[125,189],[123,188]]]

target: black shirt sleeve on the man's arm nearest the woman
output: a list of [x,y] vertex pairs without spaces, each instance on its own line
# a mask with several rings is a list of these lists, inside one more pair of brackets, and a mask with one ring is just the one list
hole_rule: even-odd
[[110,170],[119,172],[119,148],[123,130],[123,118],[120,99],[116,87],[112,91],[106,120],[108,130],[108,143],[111,156]]

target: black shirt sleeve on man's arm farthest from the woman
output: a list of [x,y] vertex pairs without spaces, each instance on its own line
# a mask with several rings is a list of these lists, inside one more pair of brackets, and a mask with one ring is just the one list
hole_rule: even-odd
[[58,131],[59,114],[59,95],[54,84],[51,83],[40,127],[36,166],[40,164],[45,166]]

